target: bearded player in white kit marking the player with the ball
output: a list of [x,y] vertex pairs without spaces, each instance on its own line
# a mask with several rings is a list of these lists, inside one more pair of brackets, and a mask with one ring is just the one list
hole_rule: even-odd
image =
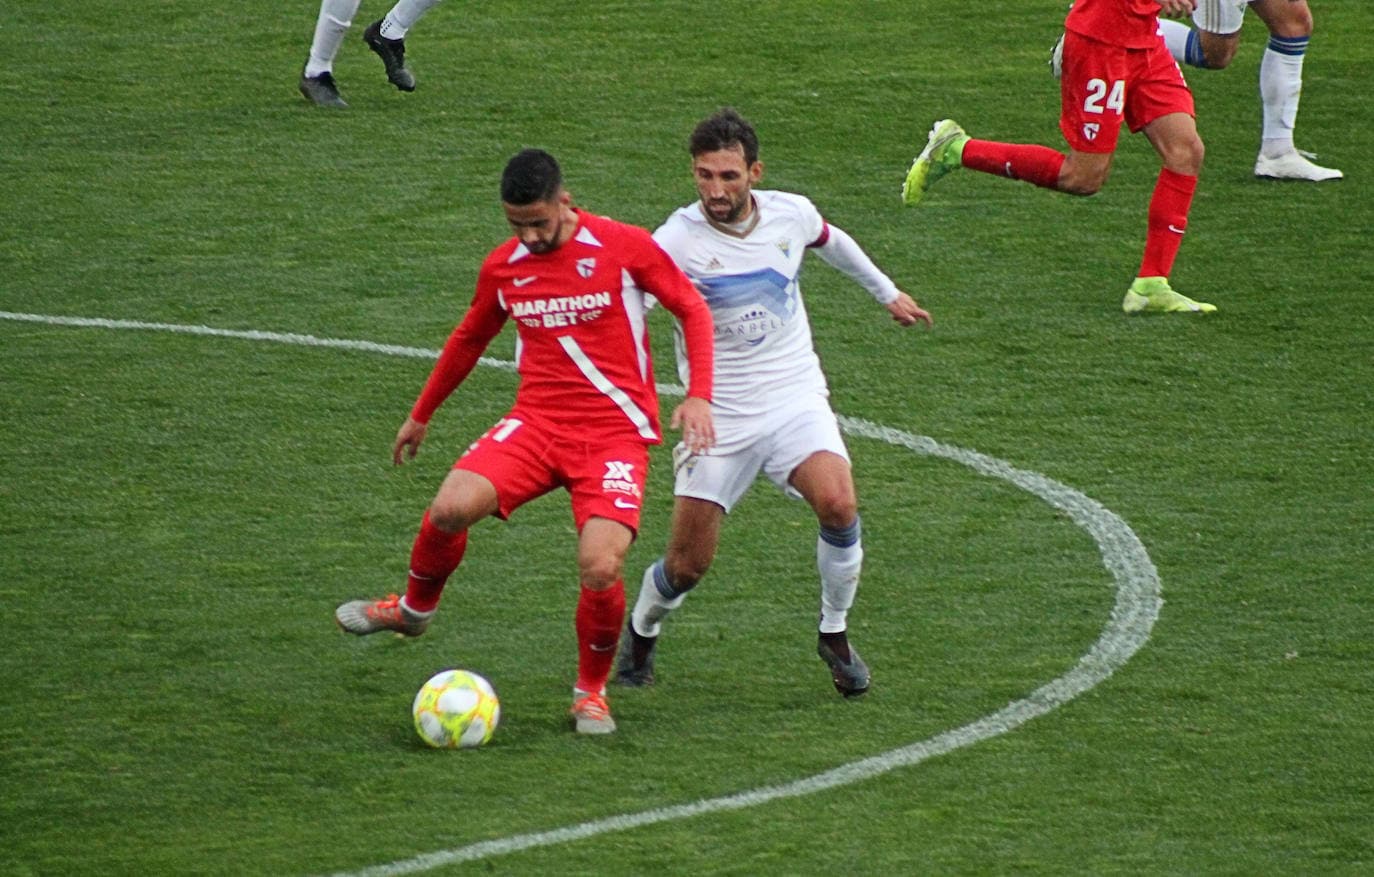
[[[754,190],[763,176],[758,137],[734,110],[710,115],[690,140],[701,199],[675,212],[654,239],[691,278],[710,307],[716,334],[712,412],[716,445],[675,449],[672,535],[650,564],[621,639],[616,680],[654,680],[664,617],[706,575],[720,524],[763,473],[805,499],[820,524],[818,653],[845,697],[868,689],[868,667],[849,645],[846,617],[863,564],[849,452],[830,408],[812,346],[798,275],[813,249],[860,283],[901,326],[930,315],[885,275],[848,234],[822,219],[802,195]],[[690,379],[679,348],[679,374]]]

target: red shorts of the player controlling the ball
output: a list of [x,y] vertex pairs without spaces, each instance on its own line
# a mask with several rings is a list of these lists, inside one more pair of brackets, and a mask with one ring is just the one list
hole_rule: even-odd
[[496,488],[502,520],[532,499],[562,487],[573,498],[573,521],[609,518],[639,532],[649,448],[636,438],[584,440],[521,421],[511,412],[469,445],[453,469],[473,471]]

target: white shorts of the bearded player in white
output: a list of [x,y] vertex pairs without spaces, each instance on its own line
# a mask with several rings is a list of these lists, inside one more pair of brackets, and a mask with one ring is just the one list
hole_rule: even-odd
[[705,454],[673,448],[673,493],[713,502],[730,511],[763,471],[789,496],[801,498],[787,478],[818,451],[849,460],[840,422],[819,393],[758,417],[716,415],[716,447]]

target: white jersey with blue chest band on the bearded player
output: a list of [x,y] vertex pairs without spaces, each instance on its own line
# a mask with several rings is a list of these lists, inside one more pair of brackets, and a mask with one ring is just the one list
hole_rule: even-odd
[[[676,210],[654,239],[691,278],[716,324],[712,403],[757,415],[804,393],[829,395],[801,300],[802,256],[824,243],[826,221],[802,195],[754,190],[758,223],[739,236],[712,224],[701,202]],[[690,371],[680,337],[677,374]]]

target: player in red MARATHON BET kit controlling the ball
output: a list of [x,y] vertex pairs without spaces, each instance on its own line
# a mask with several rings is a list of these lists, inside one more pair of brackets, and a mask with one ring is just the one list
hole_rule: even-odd
[[334,616],[350,634],[419,636],[463,559],[469,528],[565,487],[581,579],[572,718],[581,734],[609,734],[606,678],[625,617],[621,568],[639,528],[647,445],[661,441],[644,294],[680,322],[691,381],[671,426],[698,451],[714,443],[712,316],[647,231],[574,208],[548,153],[510,159],[502,202],[515,236],[482,263],[471,307],[396,434],[393,460],[415,456],[430,417],[510,319],[515,404],[469,447],[425,513],[405,595],[346,602]]

